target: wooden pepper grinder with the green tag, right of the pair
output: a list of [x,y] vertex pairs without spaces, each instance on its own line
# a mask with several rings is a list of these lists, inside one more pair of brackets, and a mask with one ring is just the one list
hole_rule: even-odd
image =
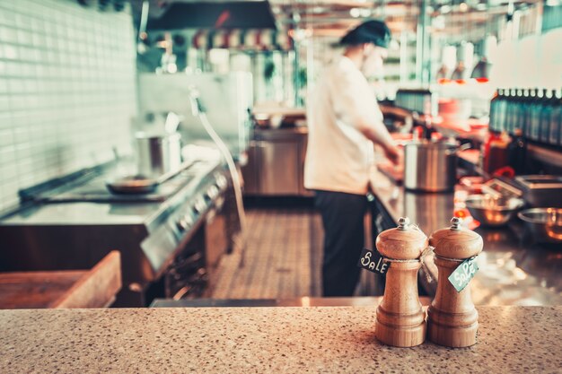
[[457,291],[449,276],[466,259],[477,256],[483,242],[476,232],[461,228],[459,218],[451,222],[450,228],[436,230],[429,237],[439,272],[435,299],[427,309],[427,338],[448,347],[468,347],[476,344],[479,313],[472,303],[470,285]]

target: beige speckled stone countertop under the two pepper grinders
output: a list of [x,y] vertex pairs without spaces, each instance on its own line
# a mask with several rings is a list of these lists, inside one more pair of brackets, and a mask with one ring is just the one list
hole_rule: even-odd
[[560,373],[562,307],[482,307],[479,343],[379,344],[374,307],[0,311],[6,373]]

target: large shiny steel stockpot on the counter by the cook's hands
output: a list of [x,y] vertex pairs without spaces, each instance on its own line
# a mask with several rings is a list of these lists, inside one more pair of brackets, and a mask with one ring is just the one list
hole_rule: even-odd
[[443,142],[404,145],[404,187],[414,191],[452,191],[457,182],[457,146]]

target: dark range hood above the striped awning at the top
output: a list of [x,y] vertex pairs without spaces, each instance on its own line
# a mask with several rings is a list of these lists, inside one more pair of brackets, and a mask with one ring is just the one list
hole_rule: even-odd
[[147,30],[276,29],[268,1],[174,2]]

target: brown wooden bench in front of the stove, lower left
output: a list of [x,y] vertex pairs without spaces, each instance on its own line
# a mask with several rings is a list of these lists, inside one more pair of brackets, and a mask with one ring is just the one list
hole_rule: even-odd
[[91,270],[0,273],[0,309],[104,308],[120,288],[114,250]]

